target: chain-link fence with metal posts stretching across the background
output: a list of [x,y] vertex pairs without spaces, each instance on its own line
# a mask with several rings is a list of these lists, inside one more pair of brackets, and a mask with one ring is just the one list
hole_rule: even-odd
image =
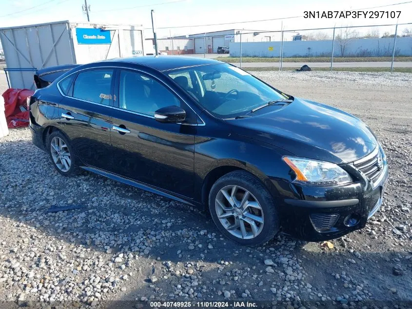
[[[169,31],[172,32],[171,30]],[[412,22],[275,31],[232,29],[157,39],[158,53],[249,69],[412,72]]]

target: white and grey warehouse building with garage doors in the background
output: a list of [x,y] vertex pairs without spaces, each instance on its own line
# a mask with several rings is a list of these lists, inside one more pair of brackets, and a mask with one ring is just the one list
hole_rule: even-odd
[[266,37],[265,33],[261,33],[259,30],[230,29],[176,36],[169,39],[190,39],[191,48],[183,46],[183,49],[186,49],[188,54],[212,54],[217,53],[217,47],[219,46],[229,47],[230,42],[240,42],[240,40],[242,42],[270,41],[270,36]]

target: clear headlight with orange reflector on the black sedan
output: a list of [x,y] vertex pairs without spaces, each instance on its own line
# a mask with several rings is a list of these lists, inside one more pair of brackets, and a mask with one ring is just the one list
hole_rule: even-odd
[[334,163],[295,157],[283,157],[295,172],[295,182],[305,185],[342,185],[352,182],[351,176]]

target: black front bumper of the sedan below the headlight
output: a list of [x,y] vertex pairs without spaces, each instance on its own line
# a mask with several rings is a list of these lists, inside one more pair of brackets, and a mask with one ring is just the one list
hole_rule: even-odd
[[[356,173],[354,168],[352,172]],[[282,191],[290,194],[279,205],[283,232],[301,240],[324,241],[365,227],[382,205],[388,175],[385,158],[375,183],[362,173],[353,183],[337,187],[284,183]]]

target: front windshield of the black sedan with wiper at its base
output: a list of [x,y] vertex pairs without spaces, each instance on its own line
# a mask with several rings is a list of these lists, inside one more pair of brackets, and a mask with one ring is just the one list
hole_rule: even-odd
[[289,98],[251,74],[225,63],[177,69],[167,74],[205,109],[224,119]]

